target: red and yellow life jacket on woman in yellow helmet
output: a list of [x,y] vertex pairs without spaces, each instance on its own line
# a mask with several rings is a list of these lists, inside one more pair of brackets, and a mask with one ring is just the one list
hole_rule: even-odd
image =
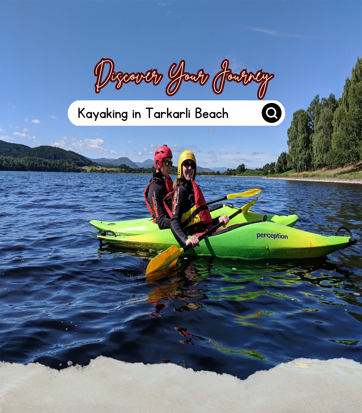
[[[198,184],[195,181],[192,181],[191,183],[193,186],[193,191],[195,193],[195,205],[184,214],[182,214],[181,228],[186,228],[200,221],[207,228],[210,224],[212,224],[209,208],[206,205],[204,195],[202,195]],[[167,194],[163,200],[164,207],[170,216],[172,216],[172,210],[176,206],[176,189],[177,187],[171,193]]]

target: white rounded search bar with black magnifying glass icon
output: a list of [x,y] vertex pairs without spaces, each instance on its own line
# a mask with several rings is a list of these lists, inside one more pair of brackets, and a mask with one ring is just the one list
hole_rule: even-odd
[[76,100],[77,126],[277,126],[285,109],[276,100]]

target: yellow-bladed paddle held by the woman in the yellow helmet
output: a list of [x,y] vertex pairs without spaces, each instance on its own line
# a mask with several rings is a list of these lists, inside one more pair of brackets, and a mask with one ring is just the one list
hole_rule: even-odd
[[[262,197],[262,195],[260,195],[259,198],[248,202],[248,204],[244,205],[243,207],[238,209],[236,212],[231,214],[231,216],[229,216],[229,220],[231,221],[238,214],[241,214],[241,213],[244,214],[245,212],[249,211],[249,209],[261,197]],[[208,237],[211,233],[216,231],[222,225],[224,225],[223,222],[219,222],[218,224],[214,225],[212,228],[210,228],[210,230],[206,231],[205,233],[200,235],[200,237],[198,237],[199,241],[201,241],[204,238]],[[155,256],[155,258],[152,258],[152,260],[148,264],[148,266],[146,268],[146,278],[148,278],[148,276],[151,273],[154,273],[156,271],[162,271],[167,267],[171,267],[171,266],[176,265],[176,262],[177,262],[177,259],[179,258],[179,256],[181,256],[184,252],[186,252],[188,249],[191,249],[191,248],[193,248],[192,244],[188,244],[183,248],[178,248],[178,247],[176,247],[176,245],[172,245],[171,247],[166,249],[166,251],[161,252],[161,254],[158,254],[157,256]],[[157,278],[162,278],[162,276],[157,277]],[[157,279],[157,278],[153,278],[153,279]]]

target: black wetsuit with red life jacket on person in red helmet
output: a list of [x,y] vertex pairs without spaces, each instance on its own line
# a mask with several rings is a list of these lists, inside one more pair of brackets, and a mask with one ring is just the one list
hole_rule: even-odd
[[170,228],[171,222],[163,204],[163,199],[167,195],[167,188],[161,172],[155,171],[152,175],[153,178],[156,178],[156,180],[151,182],[148,187],[147,200],[155,214],[158,228],[164,230]]

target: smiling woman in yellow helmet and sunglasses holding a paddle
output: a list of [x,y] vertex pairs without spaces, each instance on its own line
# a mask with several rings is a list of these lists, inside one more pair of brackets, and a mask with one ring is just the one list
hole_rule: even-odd
[[[190,150],[179,157],[174,190],[164,199],[164,206],[171,216],[171,231],[181,246],[199,245],[198,235],[219,222],[229,222],[227,215],[211,218],[202,192],[195,183],[196,158]],[[188,236],[190,236],[188,238]]]

